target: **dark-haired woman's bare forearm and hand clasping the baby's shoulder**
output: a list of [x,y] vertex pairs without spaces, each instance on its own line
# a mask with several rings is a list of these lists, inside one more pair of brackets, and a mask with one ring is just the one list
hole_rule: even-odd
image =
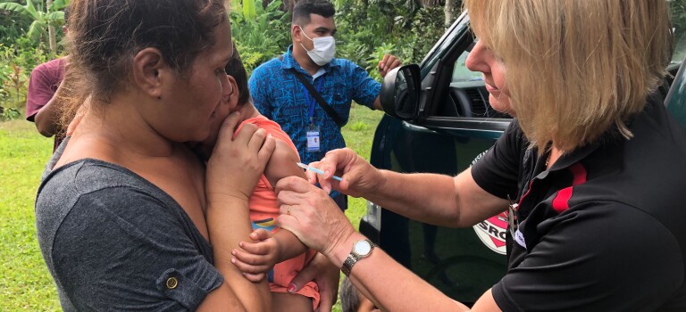
[[218,291],[207,295],[201,310],[268,311],[272,308],[272,295],[266,280],[250,282],[231,263],[231,250],[238,248],[239,242],[247,241],[252,232],[248,199],[275,145],[274,139],[255,125],[245,125],[232,139],[239,115],[235,112],[224,120],[217,144],[207,161],[205,218],[214,266],[222,272],[224,283]]

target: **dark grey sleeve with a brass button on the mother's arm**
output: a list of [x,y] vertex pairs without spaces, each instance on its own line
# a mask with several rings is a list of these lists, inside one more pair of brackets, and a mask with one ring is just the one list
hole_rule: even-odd
[[174,210],[130,187],[82,195],[52,256],[79,310],[194,310],[223,282]]

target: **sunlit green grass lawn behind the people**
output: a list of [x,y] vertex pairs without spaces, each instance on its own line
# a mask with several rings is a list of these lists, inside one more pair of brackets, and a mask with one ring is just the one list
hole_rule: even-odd
[[[367,160],[383,113],[355,105],[343,128],[347,145]],[[60,310],[53,279],[38,248],[33,202],[53,139],[25,120],[0,122],[0,311]],[[347,217],[356,227],[365,201],[351,198]],[[339,304],[334,311],[340,311]]]

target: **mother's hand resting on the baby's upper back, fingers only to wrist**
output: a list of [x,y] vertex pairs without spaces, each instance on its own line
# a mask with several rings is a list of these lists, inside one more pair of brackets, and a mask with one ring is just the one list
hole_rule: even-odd
[[232,138],[239,119],[238,112],[224,119],[212,156],[207,161],[205,193],[208,201],[215,195],[250,198],[274,152],[276,143],[272,136],[253,124],[244,125]]

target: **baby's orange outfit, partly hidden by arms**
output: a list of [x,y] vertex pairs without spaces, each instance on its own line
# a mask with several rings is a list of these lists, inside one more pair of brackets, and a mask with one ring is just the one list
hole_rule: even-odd
[[[258,116],[241,122],[236,132],[245,124],[255,124],[257,127],[267,130],[267,134],[271,134],[274,138],[288,143],[293,151],[297,152],[296,145],[293,144],[289,135],[283,132],[276,122],[264,116]],[[269,183],[269,180],[264,175],[260,177],[257,186],[255,186],[255,191],[250,196],[249,206],[250,221],[252,222],[253,229],[264,228],[272,233],[279,231],[279,227],[275,224],[276,218],[279,217],[279,204],[276,201],[276,193],[274,193],[272,184]],[[277,263],[272,271],[267,274],[270,289],[275,292],[288,292],[287,289],[290,281],[309,263],[315,254],[316,251],[307,250],[296,258]],[[312,298],[314,309],[319,306],[319,287],[317,287],[316,283],[306,283],[297,293]]]

